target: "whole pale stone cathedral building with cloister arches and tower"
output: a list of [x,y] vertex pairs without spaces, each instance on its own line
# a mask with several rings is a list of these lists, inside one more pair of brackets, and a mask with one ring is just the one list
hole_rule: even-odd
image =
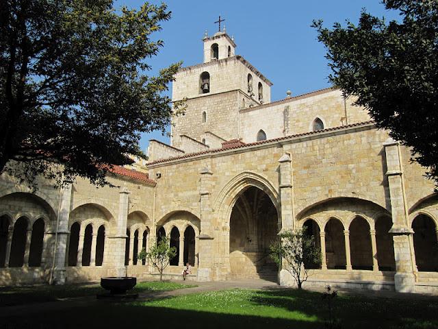
[[268,248],[305,228],[322,252],[305,285],[438,291],[438,198],[409,149],[339,90],[271,102],[272,83],[226,32],[203,45],[172,86],[187,109],[171,144],[114,167],[118,188],[41,180],[31,193],[0,177],[0,284],[154,278],[136,256],[166,234],[178,250],[168,278],[188,262],[192,280],[293,285]]

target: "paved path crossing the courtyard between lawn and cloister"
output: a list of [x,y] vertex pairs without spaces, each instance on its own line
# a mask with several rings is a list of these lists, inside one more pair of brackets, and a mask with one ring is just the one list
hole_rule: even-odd
[[[175,281],[174,281],[175,282]],[[183,281],[177,281],[182,283]],[[261,279],[246,279],[246,280],[235,280],[235,281],[215,281],[215,282],[195,282],[187,281],[187,284],[196,284],[197,287],[177,289],[172,291],[144,291],[139,293],[139,297],[136,301],[147,301],[157,298],[174,297],[181,295],[188,295],[190,293],[201,293],[204,291],[217,291],[224,289],[287,289],[281,287],[275,282],[270,282]],[[312,291],[324,291],[323,287],[315,287],[311,289]],[[363,295],[367,297],[383,297],[383,298],[396,298],[396,299],[411,299],[411,300],[430,300],[433,302],[438,302],[437,295],[422,295],[422,294],[412,294],[412,293],[396,293],[394,291],[370,291],[370,290],[354,290],[354,289],[335,289],[341,294],[348,295]],[[94,295],[87,297],[71,297],[63,298],[57,302],[41,302],[36,304],[26,304],[19,306],[5,306],[0,307],[0,318],[1,317],[14,317],[21,316],[23,314],[30,313],[44,313],[48,310],[53,312],[54,310],[63,310],[72,307],[81,306],[93,306],[99,303],[112,302],[110,300],[96,300]]]

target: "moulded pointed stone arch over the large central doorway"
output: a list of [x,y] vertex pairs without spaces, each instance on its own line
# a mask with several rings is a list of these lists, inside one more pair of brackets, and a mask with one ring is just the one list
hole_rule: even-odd
[[244,171],[235,175],[234,178],[231,178],[231,180],[221,188],[214,202],[214,209],[218,209],[216,225],[229,227],[229,218],[235,202],[239,198],[240,193],[250,186],[259,188],[270,197],[279,215],[279,225],[281,225],[279,193],[268,179],[252,171]]

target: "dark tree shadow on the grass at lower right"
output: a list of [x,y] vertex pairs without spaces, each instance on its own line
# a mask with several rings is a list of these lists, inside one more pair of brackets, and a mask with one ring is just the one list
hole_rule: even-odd
[[[322,294],[311,291],[257,291],[251,302],[302,313],[312,310],[323,321],[329,317]],[[342,328],[438,328],[437,297],[338,295],[333,301],[333,315]]]

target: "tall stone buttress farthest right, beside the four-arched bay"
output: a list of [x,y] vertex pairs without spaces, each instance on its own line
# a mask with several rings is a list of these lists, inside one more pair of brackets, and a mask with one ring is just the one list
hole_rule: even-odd
[[415,253],[411,243],[413,230],[409,226],[407,201],[404,193],[400,145],[392,138],[388,138],[383,146],[386,154],[386,175],[393,222],[389,233],[393,234],[396,259],[394,285],[396,291],[411,293],[415,290]]

